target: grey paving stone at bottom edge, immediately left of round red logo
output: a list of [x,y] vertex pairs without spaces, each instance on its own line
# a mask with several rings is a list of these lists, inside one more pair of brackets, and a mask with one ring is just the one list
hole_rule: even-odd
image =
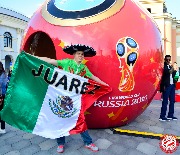
[[157,147],[148,143],[140,143],[136,149],[147,155],[155,155],[157,152]]

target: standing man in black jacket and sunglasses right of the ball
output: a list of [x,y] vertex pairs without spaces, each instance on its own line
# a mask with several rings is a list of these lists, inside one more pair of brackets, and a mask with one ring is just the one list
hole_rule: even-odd
[[[178,72],[177,63],[170,64],[171,56],[166,55],[164,58],[164,69],[163,75],[160,83],[160,91],[162,92],[162,107],[159,121],[170,121],[177,120],[174,117],[174,103],[175,103],[175,84],[177,79],[175,79],[176,72]],[[169,103],[169,112],[166,117],[167,105]]]

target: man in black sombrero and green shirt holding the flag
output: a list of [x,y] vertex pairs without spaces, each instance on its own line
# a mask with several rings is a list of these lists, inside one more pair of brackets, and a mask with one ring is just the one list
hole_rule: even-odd
[[[88,67],[84,64],[82,64],[82,61],[84,60],[84,57],[92,57],[96,55],[96,51],[89,46],[86,45],[71,45],[67,46],[63,49],[64,52],[67,54],[73,55],[74,59],[63,59],[63,60],[55,60],[55,59],[50,59],[47,57],[38,57],[35,56],[41,60],[44,60],[54,66],[61,67],[63,70],[82,76],[82,77],[88,77],[102,85],[107,85],[105,82],[100,80],[98,77],[93,75]],[[96,152],[98,151],[98,147],[92,143],[92,138],[90,137],[89,133],[87,130],[83,131],[81,133],[81,137],[84,141],[85,147]],[[58,143],[58,148],[57,152],[62,153],[64,152],[64,144],[65,144],[65,137],[60,137],[57,138],[57,143]]]

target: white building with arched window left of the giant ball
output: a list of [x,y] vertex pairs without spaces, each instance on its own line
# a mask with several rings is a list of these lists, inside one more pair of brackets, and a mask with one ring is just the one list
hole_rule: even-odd
[[0,61],[6,71],[12,69],[29,18],[0,7]]

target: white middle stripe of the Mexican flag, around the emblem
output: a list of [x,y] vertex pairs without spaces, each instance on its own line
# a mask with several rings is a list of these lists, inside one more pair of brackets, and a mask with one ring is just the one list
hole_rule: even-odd
[[[64,71],[55,68],[54,72],[58,72],[57,79],[60,79],[64,75]],[[68,74],[66,74],[68,76]],[[73,75],[73,74],[69,74]],[[73,77],[68,76],[67,80],[67,87],[69,88],[71,84],[71,79],[74,77],[78,77],[76,75],[73,75]],[[80,77],[83,81],[87,82],[88,79]],[[83,83],[83,82],[81,82]],[[82,85],[82,84],[81,84]],[[48,90],[46,92],[36,125],[33,130],[33,134],[37,134],[43,137],[51,137],[52,139],[62,137],[62,136],[68,136],[69,131],[73,129],[76,126],[79,113],[81,110],[81,94],[76,94],[75,91],[69,92],[68,90],[65,91],[62,89],[63,85],[59,85],[59,87],[55,87],[54,85],[49,85]],[[80,86],[81,87],[81,86]],[[56,99],[58,96],[69,96],[73,101],[73,109],[76,109],[76,112],[73,114],[73,116],[69,118],[61,118],[58,117],[58,115],[55,115],[51,107],[49,105],[49,99],[51,101],[54,101],[54,103],[57,103]],[[52,103],[52,102],[51,102]],[[33,110],[33,109],[32,109]]]

